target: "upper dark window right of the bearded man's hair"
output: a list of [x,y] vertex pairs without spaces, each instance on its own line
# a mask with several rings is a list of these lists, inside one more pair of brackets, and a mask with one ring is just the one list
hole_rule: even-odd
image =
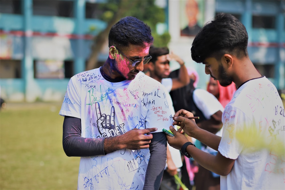
[[253,16],[252,27],[253,28],[275,28],[275,16]]

